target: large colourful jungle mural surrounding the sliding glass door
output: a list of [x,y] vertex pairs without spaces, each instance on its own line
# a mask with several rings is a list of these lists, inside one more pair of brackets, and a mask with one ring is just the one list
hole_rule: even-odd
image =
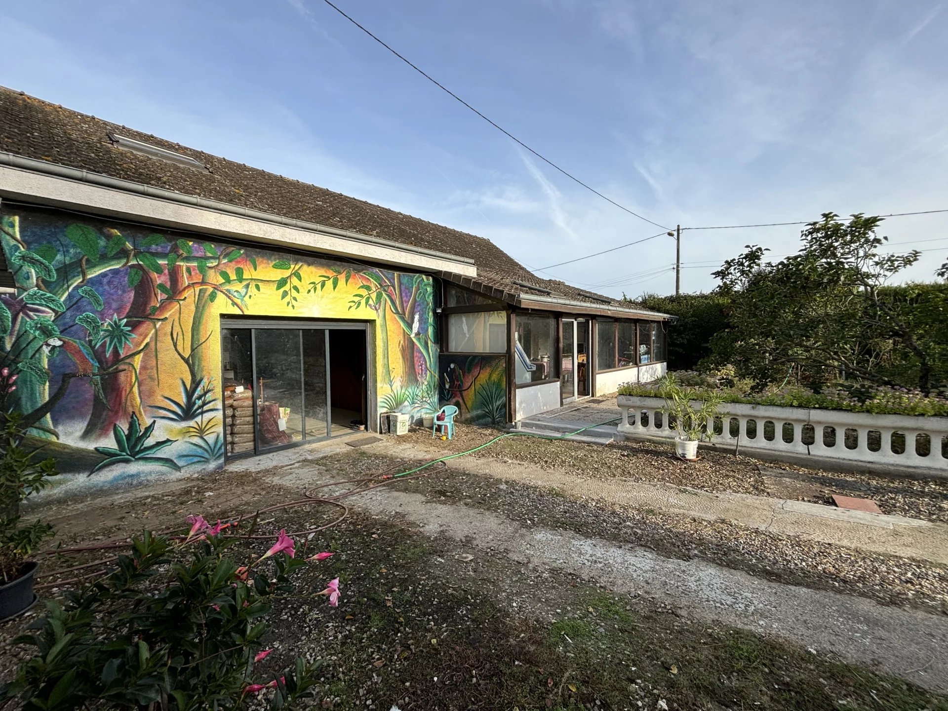
[[381,410],[436,409],[429,277],[5,207],[0,410],[79,480],[223,464],[222,315],[374,321]]

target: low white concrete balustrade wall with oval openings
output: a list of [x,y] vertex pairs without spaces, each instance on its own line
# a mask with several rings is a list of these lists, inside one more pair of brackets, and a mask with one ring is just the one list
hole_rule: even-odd
[[[700,405],[693,402],[696,407]],[[674,439],[661,397],[619,395],[619,432]],[[870,465],[948,476],[948,417],[871,414],[724,403],[709,444],[767,459]]]

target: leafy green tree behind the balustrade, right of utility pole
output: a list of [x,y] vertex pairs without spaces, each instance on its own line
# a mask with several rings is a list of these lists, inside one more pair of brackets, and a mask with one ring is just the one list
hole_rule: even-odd
[[[826,212],[791,257],[764,262],[767,250],[748,245],[724,262],[715,276],[731,301],[731,326],[713,337],[713,359],[758,383],[786,379],[795,367],[810,384],[855,377],[929,392],[938,349],[908,315],[910,304],[885,296],[886,281],[919,252],[880,252],[888,239],[876,233],[881,222]],[[909,367],[890,367],[894,359]]]

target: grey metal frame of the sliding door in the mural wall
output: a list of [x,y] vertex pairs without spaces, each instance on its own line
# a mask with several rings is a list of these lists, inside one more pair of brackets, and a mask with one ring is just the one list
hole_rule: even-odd
[[[302,445],[312,445],[319,442],[325,442],[326,440],[332,439],[332,388],[330,383],[330,357],[329,357],[329,331],[332,329],[337,330],[348,330],[348,331],[362,331],[365,333],[365,374],[366,374],[366,414],[370,412],[377,411],[378,408],[375,406],[375,387],[374,387],[374,377],[372,377],[372,354],[373,354],[373,340],[372,340],[372,325],[371,321],[328,321],[328,320],[313,320],[313,319],[259,319],[259,318],[240,318],[240,317],[227,317],[222,316],[220,321],[220,330],[218,333],[223,333],[224,329],[230,328],[245,328],[250,330],[250,361],[251,361],[251,372],[253,374],[253,383],[256,387],[257,383],[257,337],[254,331],[261,329],[283,329],[283,330],[319,330],[322,329],[325,332],[325,360],[326,360],[326,435],[324,437],[313,437],[306,439],[305,436],[301,439],[300,442],[289,442],[285,445],[280,445],[278,447],[266,447],[261,449],[260,447],[260,434],[257,428],[257,392],[253,391],[253,449],[246,452],[240,452],[237,454],[229,454],[227,451],[227,432],[226,432],[226,422],[223,421],[221,425],[221,434],[224,437],[225,448],[224,448],[224,462],[227,464],[230,460],[235,459],[245,459],[246,457],[255,457],[260,454],[269,454],[271,452],[279,452],[283,449],[289,449],[292,447],[301,447]],[[224,338],[220,339],[220,348],[221,348],[221,368],[224,367]],[[300,338],[300,352],[302,356],[302,338]],[[300,367],[302,369],[303,364],[301,362]],[[302,371],[301,371],[301,375]],[[223,387],[223,379],[221,380],[221,385]],[[301,415],[305,417],[305,403],[306,403],[306,389],[303,387],[301,389],[302,397],[302,409]],[[223,401],[221,401],[221,406],[223,407]],[[303,422],[305,425],[305,421]],[[378,427],[377,418],[369,418],[369,422],[366,423],[367,431],[376,431]]]

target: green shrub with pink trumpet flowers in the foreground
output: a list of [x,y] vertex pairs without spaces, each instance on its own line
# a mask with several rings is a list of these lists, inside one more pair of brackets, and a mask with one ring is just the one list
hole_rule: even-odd
[[[315,696],[315,668],[301,659],[251,684],[268,653],[260,648],[270,601],[293,593],[290,577],[306,565],[292,557],[292,539],[281,532],[267,555],[239,566],[225,556],[233,539],[219,535],[220,524],[192,521],[183,542],[145,531],[113,572],[67,593],[63,606],[48,603],[48,615],[16,640],[34,653],[0,689],[0,702],[199,711],[244,708],[263,689],[274,690],[273,708]],[[335,605],[337,585],[318,594]]]

